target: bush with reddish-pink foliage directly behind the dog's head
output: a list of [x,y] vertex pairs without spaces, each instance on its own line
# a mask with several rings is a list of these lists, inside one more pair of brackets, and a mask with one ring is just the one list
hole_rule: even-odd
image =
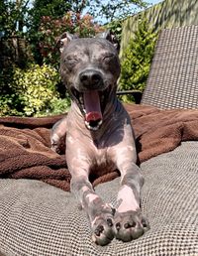
[[56,43],[62,33],[69,32],[79,37],[89,37],[102,30],[102,27],[93,22],[93,17],[89,14],[81,17],[78,13],[67,12],[59,19],[44,16],[37,33],[39,51],[43,57],[43,62],[58,66],[59,52]]

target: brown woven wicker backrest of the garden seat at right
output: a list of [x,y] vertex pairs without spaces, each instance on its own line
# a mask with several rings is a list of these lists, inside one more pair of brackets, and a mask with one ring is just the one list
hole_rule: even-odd
[[162,109],[198,108],[198,26],[162,30],[142,104]]

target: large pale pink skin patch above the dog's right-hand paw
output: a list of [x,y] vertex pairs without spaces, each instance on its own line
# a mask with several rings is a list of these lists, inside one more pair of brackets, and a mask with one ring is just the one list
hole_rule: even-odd
[[128,210],[137,210],[140,208],[140,205],[135,197],[133,190],[124,185],[121,190],[118,192],[118,201],[121,201],[117,211],[126,212]]

